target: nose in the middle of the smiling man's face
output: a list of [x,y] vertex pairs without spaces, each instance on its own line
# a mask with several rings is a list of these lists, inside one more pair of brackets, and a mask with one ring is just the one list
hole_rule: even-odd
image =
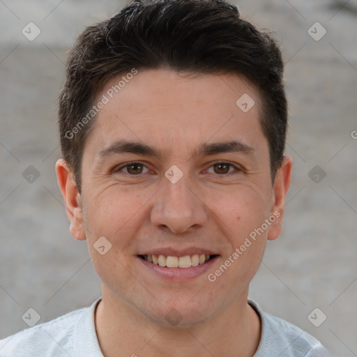
[[176,234],[190,227],[202,227],[208,219],[208,208],[199,190],[191,188],[185,175],[176,183],[165,180],[164,187],[155,195],[151,211],[152,224]]

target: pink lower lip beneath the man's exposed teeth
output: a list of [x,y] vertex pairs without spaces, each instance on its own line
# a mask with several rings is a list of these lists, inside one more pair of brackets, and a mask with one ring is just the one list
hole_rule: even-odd
[[148,268],[152,273],[160,275],[162,278],[169,280],[185,280],[196,278],[197,276],[202,275],[211,269],[218,258],[219,256],[217,255],[216,257],[206,261],[204,264],[198,264],[197,266],[191,266],[190,268],[167,268],[167,266],[156,265],[140,257],[137,257],[137,259],[139,259],[145,268]]

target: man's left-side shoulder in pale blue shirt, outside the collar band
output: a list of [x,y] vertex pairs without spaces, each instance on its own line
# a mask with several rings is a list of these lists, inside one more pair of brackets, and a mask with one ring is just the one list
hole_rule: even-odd
[[87,310],[89,307],[68,312],[0,340],[0,356],[68,356],[73,350],[73,333],[77,321]]

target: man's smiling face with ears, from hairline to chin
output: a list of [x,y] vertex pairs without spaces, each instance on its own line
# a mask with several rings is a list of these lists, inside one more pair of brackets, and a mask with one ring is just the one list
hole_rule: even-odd
[[[248,111],[236,104],[247,94]],[[103,299],[192,326],[246,297],[266,239],[280,234],[291,172],[285,158],[271,182],[260,103],[238,75],[139,71],[98,112],[81,195],[57,162],[70,231],[88,242]]]

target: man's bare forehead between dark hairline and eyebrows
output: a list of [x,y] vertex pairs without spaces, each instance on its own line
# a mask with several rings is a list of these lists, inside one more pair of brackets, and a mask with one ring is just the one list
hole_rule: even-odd
[[96,152],[121,138],[192,151],[197,143],[229,139],[254,146],[262,135],[257,89],[236,74],[182,77],[174,70],[137,70],[110,80],[95,102],[103,98],[89,135]]

